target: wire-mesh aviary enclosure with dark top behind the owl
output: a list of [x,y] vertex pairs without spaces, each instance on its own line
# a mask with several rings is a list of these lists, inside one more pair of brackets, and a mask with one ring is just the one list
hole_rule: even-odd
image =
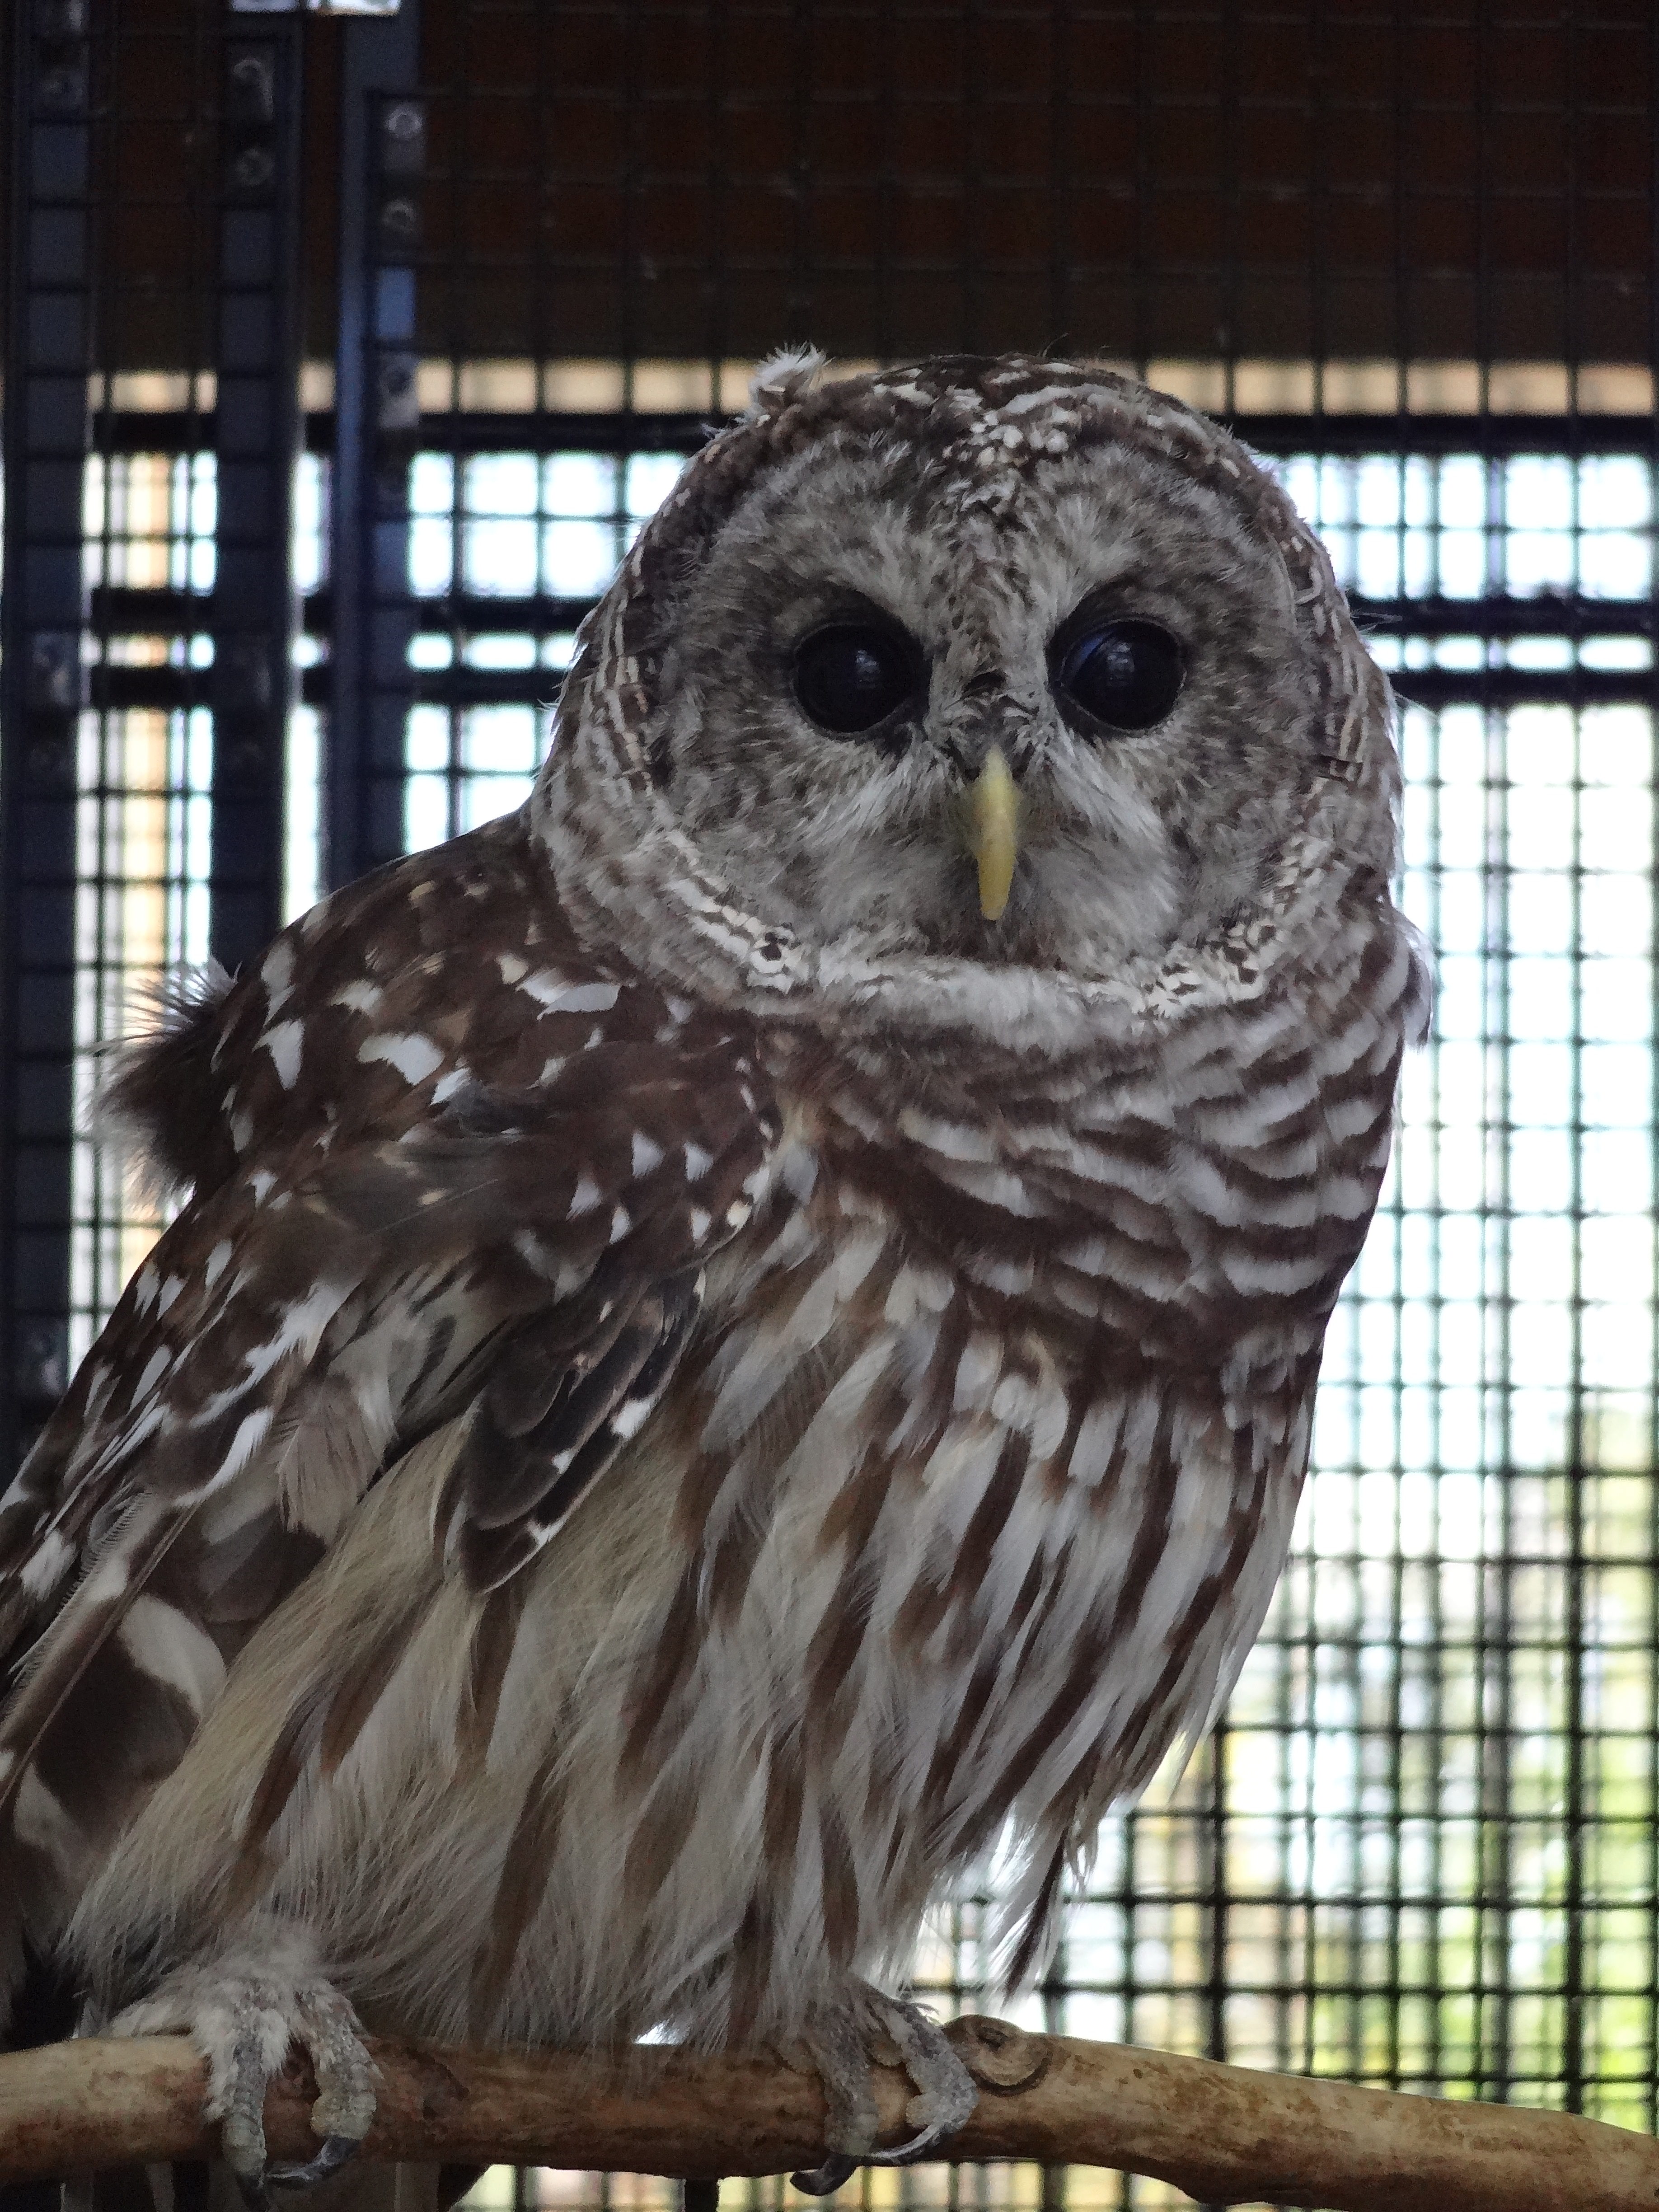
[[[520,801],[759,356],[1124,365],[1325,535],[1440,1004],[1267,1630],[1022,2017],[1655,2132],[1655,11],[15,0],[9,40],[7,1473],[157,1234],[84,1133],[137,993]],[[964,1896],[916,1964],[945,2015],[978,1938]]]

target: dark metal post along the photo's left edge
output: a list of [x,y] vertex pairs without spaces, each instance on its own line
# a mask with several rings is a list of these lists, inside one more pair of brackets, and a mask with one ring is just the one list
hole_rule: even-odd
[[20,0],[0,604],[0,1484],[66,1383],[91,367],[86,0]]

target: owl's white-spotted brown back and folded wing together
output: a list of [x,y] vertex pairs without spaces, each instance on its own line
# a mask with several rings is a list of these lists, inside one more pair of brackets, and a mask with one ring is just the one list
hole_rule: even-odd
[[[199,1113],[210,1075],[232,1168],[0,1498],[0,1891],[44,1936],[422,1433],[476,1407],[453,1571],[498,1584],[546,1542],[672,1374],[776,1137],[741,1029],[597,978],[511,825],[347,894],[212,1004],[217,1042],[195,1009],[146,1095]],[[0,1984],[4,1953],[15,1924]]]

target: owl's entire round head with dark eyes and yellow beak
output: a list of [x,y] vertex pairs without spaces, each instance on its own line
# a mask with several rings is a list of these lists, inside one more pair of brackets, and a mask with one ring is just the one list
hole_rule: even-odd
[[588,619],[533,816],[650,973],[1040,1042],[1387,902],[1396,787],[1318,542],[1203,416],[794,356]]

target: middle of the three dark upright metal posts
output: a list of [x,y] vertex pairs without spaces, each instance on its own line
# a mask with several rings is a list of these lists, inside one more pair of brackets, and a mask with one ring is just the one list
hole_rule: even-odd
[[292,502],[303,327],[303,20],[246,11],[241,31],[232,20],[223,64],[208,922],[212,953],[230,969],[281,922],[283,765],[299,628]]

